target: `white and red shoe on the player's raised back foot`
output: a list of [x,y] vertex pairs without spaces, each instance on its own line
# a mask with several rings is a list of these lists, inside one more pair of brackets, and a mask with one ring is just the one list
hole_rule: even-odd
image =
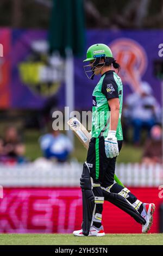
[[155,211],[155,204],[143,204],[141,216],[145,218],[146,224],[142,225],[142,233],[147,233],[153,223],[153,214]]

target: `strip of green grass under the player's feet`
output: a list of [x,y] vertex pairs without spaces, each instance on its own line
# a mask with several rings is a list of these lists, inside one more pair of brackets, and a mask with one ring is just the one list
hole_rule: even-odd
[[163,245],[163,234],[107,234],[102,237],[0,234],[0,245]]

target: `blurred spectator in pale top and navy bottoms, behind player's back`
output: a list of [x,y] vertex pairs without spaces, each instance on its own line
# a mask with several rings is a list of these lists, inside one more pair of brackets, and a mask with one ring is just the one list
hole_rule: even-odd
[[141,89],[141,94],[133,93],[127,97],[123,112],[126,132],[128,126],[133,126],[135,145],[140,143],[142,129],[145,128],[149,135],[152,126],[159,122],[161,113],[159,103],[152,95],[151,86],[147,82],[142,82]]

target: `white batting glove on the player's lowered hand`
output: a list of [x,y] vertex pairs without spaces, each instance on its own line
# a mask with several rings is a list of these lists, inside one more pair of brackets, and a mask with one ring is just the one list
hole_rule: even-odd
[[116,131],[109,131],[108,136],[105,138],[105,154],[108,158],[113,158],[119,155]]

